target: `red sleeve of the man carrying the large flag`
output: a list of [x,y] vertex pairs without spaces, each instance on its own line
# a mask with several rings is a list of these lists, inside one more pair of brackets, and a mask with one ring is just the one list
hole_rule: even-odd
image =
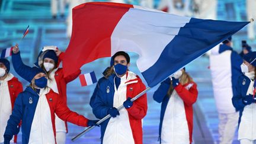
[[[145,85],[140,82],[140,87],[135,94],[139,94],[140,92],[146,89]],[[135,97],[136,95],[133,95]],[[146,94],[143,94],[140,98],[136,101],[133,101],[133,105],[130,108],[126,109],[130,115],[132,115],[135,119],[143,119],[146,116],[148,110],[148,102]]]

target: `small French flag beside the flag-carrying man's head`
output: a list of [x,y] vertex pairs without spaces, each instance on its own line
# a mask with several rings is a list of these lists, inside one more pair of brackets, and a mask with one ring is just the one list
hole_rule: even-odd
[[81,82],[82,87],[85,87],[87,85],[92,85],[95,82],[97,82],[97,78],[95,76],[95,72],[85,73],[82,75],[79,75],[79,79]]

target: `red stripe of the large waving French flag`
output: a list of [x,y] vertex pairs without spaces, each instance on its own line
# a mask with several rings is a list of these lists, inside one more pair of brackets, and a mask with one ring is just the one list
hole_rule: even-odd
[[[111,35],[129,8],[133,5],[109,2],[88,2],[73,8],[72,36],[66,50],[69,55],[63,59],[65,76],[85,63],[111,56]],[[71,65],[72,69],[66,69]]]

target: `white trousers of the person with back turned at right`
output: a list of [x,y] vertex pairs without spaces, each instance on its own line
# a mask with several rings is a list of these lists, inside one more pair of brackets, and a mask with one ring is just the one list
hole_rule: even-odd
[[219,113],[219,141],[220,144],[232,144],[238,126],[239,113]]

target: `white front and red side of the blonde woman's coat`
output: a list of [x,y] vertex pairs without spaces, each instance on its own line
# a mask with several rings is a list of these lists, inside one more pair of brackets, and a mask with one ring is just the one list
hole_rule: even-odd
[[193,107],[197,99],[195,83],[179,84],[169,98],[162,122],[161,143],[190,143],[193,130]]

